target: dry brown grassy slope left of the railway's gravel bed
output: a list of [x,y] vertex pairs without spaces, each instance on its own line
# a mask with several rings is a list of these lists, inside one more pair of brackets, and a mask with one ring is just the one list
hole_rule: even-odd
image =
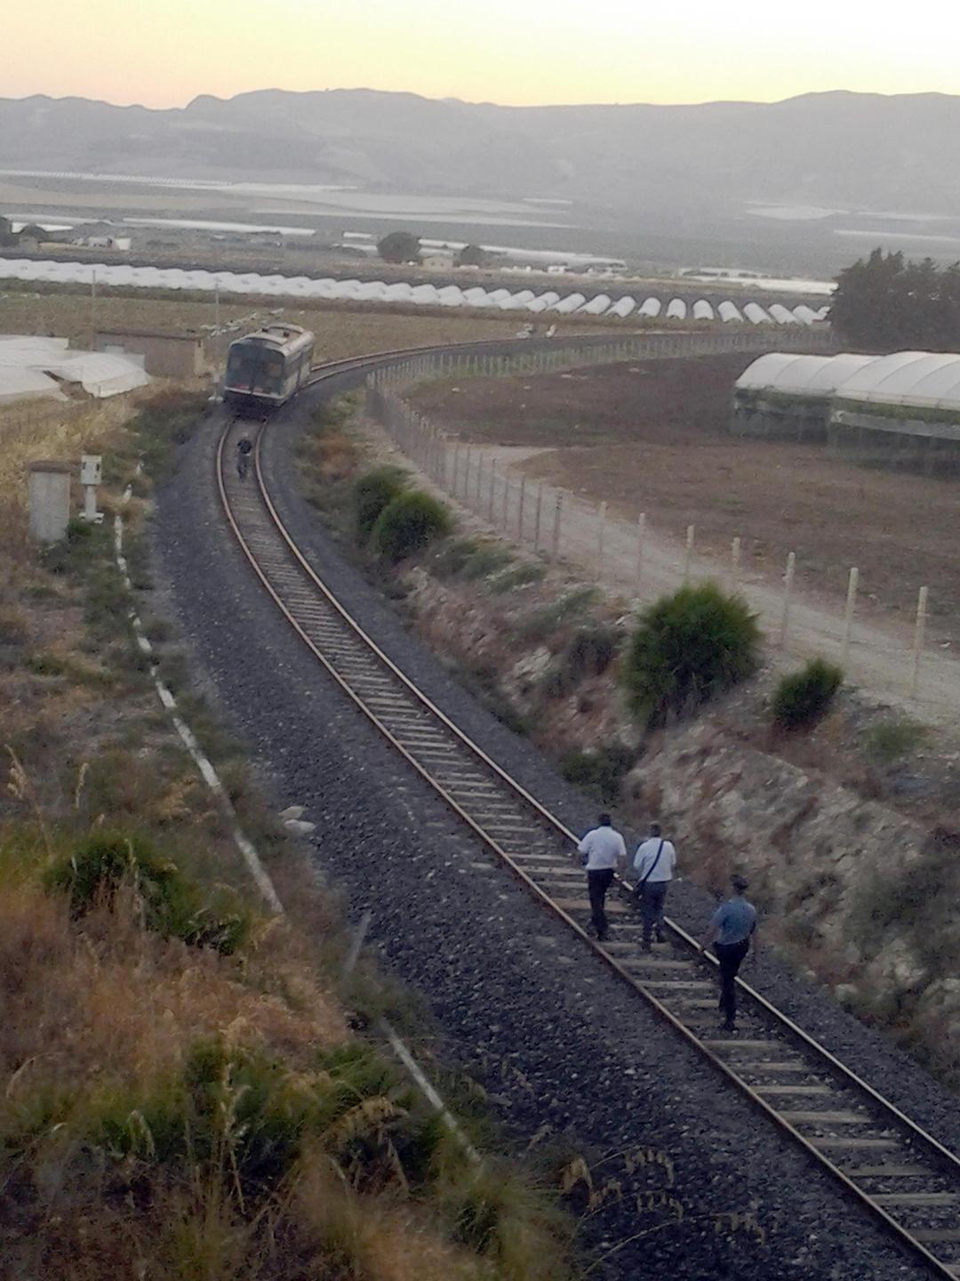
[[[0,1276],[566,1281],[564,1230],[516,1179],[497,1176],[492,1230],[465,1236],[461,1209],[489,1191],[399,1071],[351,1038],[337,904],[198,699],[184,707],[289,917],[243,906],[252,927],[224,956],[148,929],[133,884],[82,916],[50,889],[51,865],[114,830],[207,903],[224,885],[252,894],[132,658],[109,530],[58,550],[58,573],[26,538],[26,462],[102,451],[108,506],[145,445],[129,412],[27,415],[0,457],[0,748],[15,749],[0,757]],[[141,429],[163,445],[173,433],[150,415]],[[325,474],[338,451],[332,428]],[[136,578],[136,538],[129,552]],[[349,1000],[392,1012],[396,998],[362,962]]]

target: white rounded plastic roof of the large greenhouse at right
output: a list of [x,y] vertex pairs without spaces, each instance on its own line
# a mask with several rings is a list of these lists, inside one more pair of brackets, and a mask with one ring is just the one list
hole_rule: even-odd
[[794,396],[836,396],[876,405],[960,410],[960,355],[897,351],[890,356],[795,356],[755,360],[737,389]]

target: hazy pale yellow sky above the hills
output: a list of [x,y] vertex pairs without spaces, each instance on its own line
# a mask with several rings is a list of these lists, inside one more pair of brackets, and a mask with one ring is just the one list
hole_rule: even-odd
[[0,0],[0,96],[369,86],[497,102],[960,92],[956,0]]

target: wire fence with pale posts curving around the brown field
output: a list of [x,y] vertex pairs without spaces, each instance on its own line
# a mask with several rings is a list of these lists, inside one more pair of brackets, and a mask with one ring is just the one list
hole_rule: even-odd
[[[567,561],[591,579],[644,602],[682,583],[724,583],[744,593],[764,633],[781,651],[823,655],[838,662],[860,684],[897,699],[927,705],[942,719],[942,694],[952,681],[951,702],[960,690],[960,665],[941,655],[924,653],[929,592],[918,591],[910,629],[882,630],[856,619],[859,570],[851,566],[846,601],[836,610],[796,598],[796,555],[790,552],[781,584],[764,582],[741,564],[741,538],[730,547],[726,565],[700,556],[696,530],[687,526],[681,544],[652,529],[648,514],[625,518],[605,502],[589,502],[547,482],[531,480],[509,466],[511,450],[465,445],[448,438],[440,425],[417,412],[404,395],[419,382],[534,374],[625,360],[672,359],[765,350],[823,351],[822,334],[809,330],[783,334],[637,334],[618,342],[564,343],[516,354],[425,354],[381,368],[367,379],[366,410],[397,447],[438,488],[471,511],[490,529],[548,561]],[[803,566],[800,566],[803,569]],[[922,688],[923,678],[923,688]],[[940,715],[937,715],[940,712]]]

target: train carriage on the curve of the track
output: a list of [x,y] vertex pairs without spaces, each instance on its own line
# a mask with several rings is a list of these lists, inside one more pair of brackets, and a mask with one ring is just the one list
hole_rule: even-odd
[[268,324],[230,343],[223,398],[236,410],[285,405],[310,377],[314,334],[297,324]]

